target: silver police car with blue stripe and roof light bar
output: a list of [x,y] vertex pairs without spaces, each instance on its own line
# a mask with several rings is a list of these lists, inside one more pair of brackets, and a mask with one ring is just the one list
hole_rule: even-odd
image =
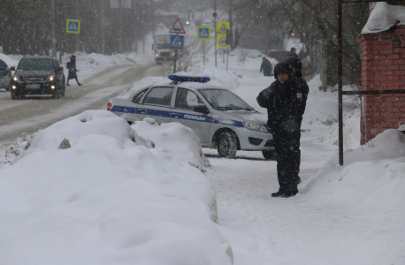
[[224,87],[211,86],[208,77],[169,76],[132,95],[112,98],[107,110],[129,124],[152,117],[159,124],[178,122],[193,129],[203,148],[218,148],[220,157],[234,158],[237,150],[274,156],[267,117]]

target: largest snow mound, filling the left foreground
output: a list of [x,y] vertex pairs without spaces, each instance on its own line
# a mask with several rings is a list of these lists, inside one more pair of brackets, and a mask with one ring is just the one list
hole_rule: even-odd
[[0,169],[1,264],[231,264],[200,170],[88,110]]

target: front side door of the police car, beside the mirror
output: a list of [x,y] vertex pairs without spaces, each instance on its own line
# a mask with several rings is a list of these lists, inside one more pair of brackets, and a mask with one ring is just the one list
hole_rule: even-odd
[[210,117],[208,114],[196,112],[195,106],[205,106],[205,104],[195,92],[178,87],[171,122],[178,122],[193,129],[202,143],[208,143]]

